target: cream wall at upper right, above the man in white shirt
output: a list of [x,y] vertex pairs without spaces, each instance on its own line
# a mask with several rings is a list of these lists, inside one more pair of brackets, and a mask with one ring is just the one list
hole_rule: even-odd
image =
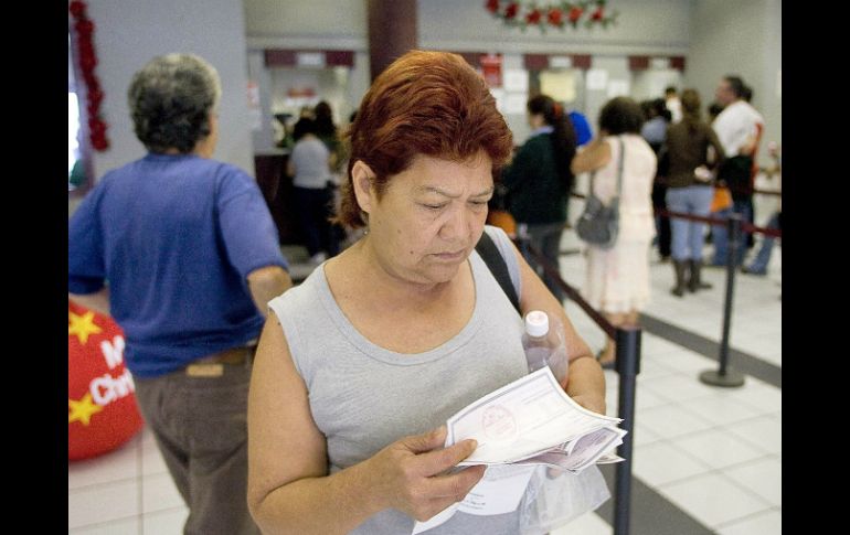
[[765,118],[758,154],[764,164],[767,142],[782,143],[782,0],[699,0],[691,26],[686,85],[699,90],[705,105],[726,74],[753,87],[752,104]]

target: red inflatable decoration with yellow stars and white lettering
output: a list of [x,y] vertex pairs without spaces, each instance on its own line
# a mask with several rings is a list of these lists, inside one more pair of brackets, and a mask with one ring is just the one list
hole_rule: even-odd
[[124,332],[115,321],[68,301],[68,460],[119,447],[142,421],[130,371],[124,367]]

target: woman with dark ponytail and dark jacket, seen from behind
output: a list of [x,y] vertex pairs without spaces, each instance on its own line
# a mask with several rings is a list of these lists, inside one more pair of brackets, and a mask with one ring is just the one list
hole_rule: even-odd
[[[527,233],[531,245],[559,269],[561,236],[574,179],[570,162],[575,156],[575,130],[563,107],[548,95],[530,98],[527,110],[532,131],[502,171],[502,183],[518,234]],[[538,274],[550,291],[563,300],[561,288],[543,275],[542,267]]]

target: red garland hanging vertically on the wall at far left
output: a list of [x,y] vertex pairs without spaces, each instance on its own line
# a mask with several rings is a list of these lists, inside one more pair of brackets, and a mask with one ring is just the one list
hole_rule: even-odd
[[104,92],[100,89],[100,83],[95,75],[97,55],[92,44],[95,23],[86,15],[86,4],[83,0],[73,0],[68,4],[68,11],[71,11],[75,21],[77,61],[79,62],[79,68],[83,72],[83,79],[86,83],[87,89],[88,138],[92,140],[92,147],[95,150],[104,151],[109,148],[109,140],[106,139],[106,121],[100,118],[100,103],[104,99]]

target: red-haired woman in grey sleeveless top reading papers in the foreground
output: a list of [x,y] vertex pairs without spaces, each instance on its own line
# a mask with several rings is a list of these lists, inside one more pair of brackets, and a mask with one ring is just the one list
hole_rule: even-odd
[[[410,52],[349,133],[339,217],[366,233],[269,303],[252,377],[248,503],[269,533],[411,533],[484,474],[446,472],[476,445],[444,448],[442,424],[528,373],[522,321],[474,249],[511,150],[482,78],[458,55]],[[563,307],[503,232],[487,232],[522,311],[564,325],[566,393],[604,413],[604,375]],[[429,533],[519,529],[514,511],[457,513]]]

